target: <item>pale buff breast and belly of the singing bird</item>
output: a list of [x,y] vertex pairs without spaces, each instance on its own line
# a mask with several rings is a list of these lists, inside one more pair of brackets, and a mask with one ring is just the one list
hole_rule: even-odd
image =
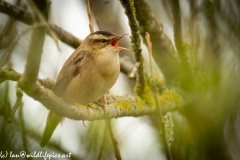
[[81,68],[62,96],[65,101],[86,105],[101,98],[115,84],[120,72],[119,59],[100,62]]

